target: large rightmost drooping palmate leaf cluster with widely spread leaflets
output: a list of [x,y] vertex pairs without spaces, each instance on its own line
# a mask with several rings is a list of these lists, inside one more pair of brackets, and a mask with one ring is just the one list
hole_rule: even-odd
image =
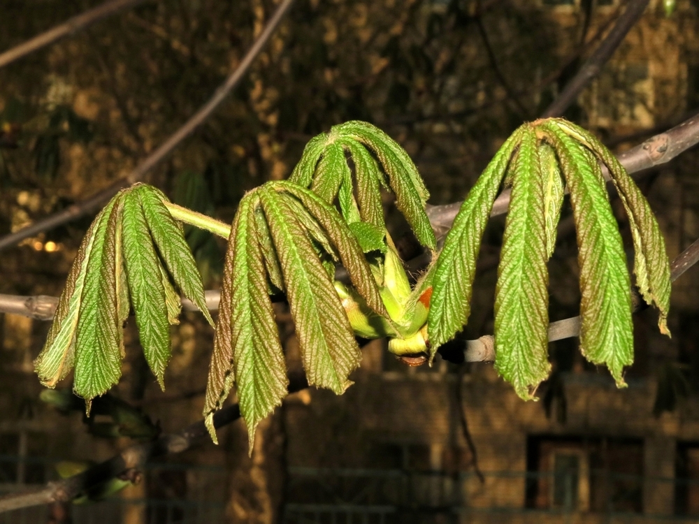
[[496,368],[522,398],[548,377],[548,272],[563,184],[570,191],[579,249],[580,349],[624,385],[633,362],[630,277],[600,163],[626,208],[636,285],[670,334],[670,266],[649,205],[617,159],[591,133],[563,119],[524,124],[505,142],[464,201],[435,265],[428,333],[439,346],[468,320],[475,261],[500,184],[512,187],[498,269]]

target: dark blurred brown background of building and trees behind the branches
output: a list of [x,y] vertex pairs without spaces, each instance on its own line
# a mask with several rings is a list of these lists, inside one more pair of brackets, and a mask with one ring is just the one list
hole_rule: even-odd
[[[99,5],[0,0],[0,50]],[[0,68],[0,235],[127,175],[240,63],[271,0],[161,0],[109,17]],[[624,11],[620,0],[297,0],[241,85],[147,182],[231,221],[245,191],[287,177],[305,143],[349,119],[410,153],[434,205],[463,200],[507,136],[535,119]],[[653,0],[565,117],[622,152],[699,111],[699,1]],[[637,177],[670,258],[699,238],[696,148]],[[387,209],[391,198],[387,195]],[[612,198],[622,235],[630,233]],[[394,238],[405,225],[391,214]],[[577,314],[570,208],[549,263],[551,319]],[[92,217],[0,254],[0,293],[58,296]],[[465,335],[493,332],[504,219],[491,220]],[[207,289],[224,245],[187,230]],[[417,255],[403,238],[404,258]],[[342,397],[307,389],[219,446],[147,465],[103,502],[0,514],[4,523],[641,523],[699,518],[699,278],[673,289],[670,329],[635,316],[635,363],[618,391],[577,339],[550,344],[552,377],[523,402],[487,363],[405,367],[364,349]],[[300,360],[278,306],[289,367]],[[40,394],[32,361],[49,323],[0,314],[0,491],[58,479],[159,431],[201,419],[212,330],[172,328],[161,392],[126,328],[124,376],[92,421]],[[70,381],[62,385],[70,388]],[[235,402],[233,398],[232,402]],[[59,409],[57,409],[57,406]],[[124,479],[122,479],[124,480]],[[125,481],[134,479],[125,479]]]

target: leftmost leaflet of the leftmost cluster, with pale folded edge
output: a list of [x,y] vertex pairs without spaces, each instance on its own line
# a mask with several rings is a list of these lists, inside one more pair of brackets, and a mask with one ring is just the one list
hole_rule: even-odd
[[73,370],[75,330],[78,327],[78,312],[82,303],[87,262],[92,254],[97,226],[101,224],[105,213],[106,209],[97,214],[85,233],[85,238],[80,243],[78,255],[75,256],[75,261],[73,261],[73,266],[66,280],[66,286],[58,301],[48,337],[41,354],[34,362],[36,374],[38,374],[41,384],[49,388],[54,388]]

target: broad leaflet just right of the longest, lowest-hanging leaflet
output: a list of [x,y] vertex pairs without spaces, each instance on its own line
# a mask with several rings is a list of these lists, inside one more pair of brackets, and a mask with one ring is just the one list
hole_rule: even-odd
[[261,187],[259,194],[284,270],[308,383],[343,393],[361,352],[338,293],[286,198],[270,187]]

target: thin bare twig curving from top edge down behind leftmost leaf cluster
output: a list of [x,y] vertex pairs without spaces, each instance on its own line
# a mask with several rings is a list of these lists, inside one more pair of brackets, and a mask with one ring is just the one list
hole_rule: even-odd
[[27,226],[20,229],[20,231],[15,231],[15,233],[11,233],[10,235],[0,238],[0,250],[13,246],[17,244],[17,242],[41,233],[42,231],[48,231],[51,228],[55,228],[56,226],[65,224],[73,219],[82,217],[84,214],[94,212],[100,205],[114,196],[117,191],[122,189],[122,187],[127,187],[130,184],[143,180],[146,173],[154,168],[157,163],[171,154],[171,152],[175,150],[175,147],[182,143],[182,140],[185,140],[185,138],[192,134],[192,132],[194,132],[198,126],[205,122],[206,119],[211,116],[212,112],[214,112],[216,108],[218,108],[218,106],[226,99],[226,96],[228,96],[231,90],[238,85],[238,82],[240,82],[240,79],[243,78],[243,75],[247,72],[247,69],[250,68],[252,61],[254,61],[259,52],[261,52],[262,48],[264,48],[264,45],[267,43],[279,23],[282,21],[282,18],[287,13],[287,10],[289,10],[292,3],[294,3],[294,0],[284,0],[282,3],[280,3],[280,6],[272,15],[269,22],[267,22],[264,31],[262,31],[260,36],[257,37],[257,40],[252,45],[252,48],[250,48],[247,54],[245,54],[243,61],[240,62],[240,65],[236,68],[236,71],[231,73],[231,75],[226,79],[226,82],[224,82],[224,84],[216,90],[211,99],[189,120],[187,120],[185,125],[175,131],[175,133],[168,138],[164,144],[146,157],[145,160],[143,160],[143,162],[141,162],[136,169],[131,171],[127,177],[120,178],[120,180],[115,181],[106,189],[99,191],[84,201],[75,203],[61,212],[31,224],[31,226]]

